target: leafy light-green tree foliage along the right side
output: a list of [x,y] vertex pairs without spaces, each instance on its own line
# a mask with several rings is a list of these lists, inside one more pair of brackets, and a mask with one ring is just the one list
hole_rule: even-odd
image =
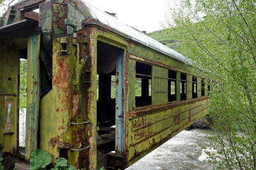
[[180,53],[211,80],[217,154],[208,154],[218,169],[256,169],[255,9],[251,0],[182,0],[172,9]]

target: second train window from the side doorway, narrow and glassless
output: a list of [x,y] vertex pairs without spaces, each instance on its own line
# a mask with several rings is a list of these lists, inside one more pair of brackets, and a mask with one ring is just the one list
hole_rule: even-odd
[[169,70],[168,71],[168,101],[169,102],[177,100],[176,89],[177,89],[177,73],[176,71]]

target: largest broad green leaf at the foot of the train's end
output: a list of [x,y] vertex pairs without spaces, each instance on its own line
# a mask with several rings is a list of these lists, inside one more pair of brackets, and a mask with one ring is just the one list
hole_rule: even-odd
[[30,170],[42,169],[51,164],[52,157],[49,152],[42,149],[36,149],[31,153]]

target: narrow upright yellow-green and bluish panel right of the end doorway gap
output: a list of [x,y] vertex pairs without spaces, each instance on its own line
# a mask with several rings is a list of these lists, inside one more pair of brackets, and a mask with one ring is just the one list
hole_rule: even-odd
[[40,101],[40,34],[28,38],[28,91],[26,113],[26,159],[37,148]]

